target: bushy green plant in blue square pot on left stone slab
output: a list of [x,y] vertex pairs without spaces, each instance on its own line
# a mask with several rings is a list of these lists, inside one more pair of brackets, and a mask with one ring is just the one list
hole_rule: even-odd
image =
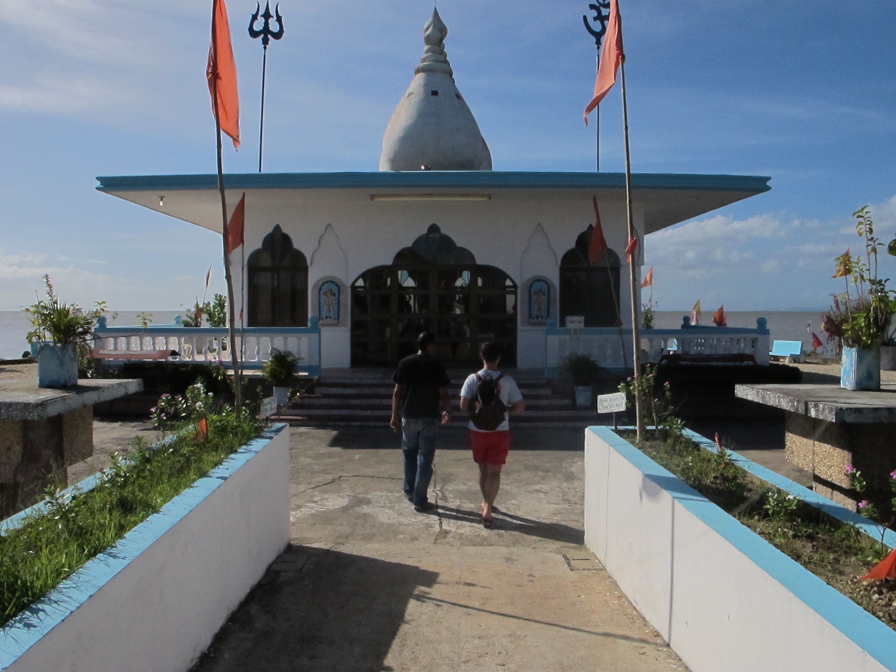
[[99,317],[108,313],[105,301],[84,310],[65,304],[56,296],[49,275],[44,276],[47,298],[22,308],[31,316],[34,329],[30,343],[38,344],[38,386],[71,387],[78,383],[78,349],[90,348],[89,341]]

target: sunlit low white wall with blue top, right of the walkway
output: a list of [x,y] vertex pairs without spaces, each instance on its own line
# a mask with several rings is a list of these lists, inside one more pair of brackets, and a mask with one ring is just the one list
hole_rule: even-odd
[[607,427],[585,432],[585,544],[693,672],[896,669],[896,633]]

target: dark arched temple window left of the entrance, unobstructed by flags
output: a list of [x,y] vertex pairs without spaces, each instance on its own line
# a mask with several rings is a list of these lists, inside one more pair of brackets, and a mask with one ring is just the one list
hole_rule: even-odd
[[308,262],[292,246],[280,224],[249,254],[248,308],[250,327],[308,325]]

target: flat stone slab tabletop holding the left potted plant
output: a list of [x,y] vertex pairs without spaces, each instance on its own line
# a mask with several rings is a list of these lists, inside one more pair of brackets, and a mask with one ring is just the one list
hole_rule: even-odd
[[45,420],[140,392],[142,380],[79,379],[65,390],[38,387],[38,366],[0,366],[0,420]]

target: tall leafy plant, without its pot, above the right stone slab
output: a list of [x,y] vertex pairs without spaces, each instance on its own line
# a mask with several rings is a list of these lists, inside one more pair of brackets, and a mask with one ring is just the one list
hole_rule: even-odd
[[877,253],[883,243],[874,235],[868,206],[853,212],[853,217],[858,236],[865,240],[865,254],[853,257],[847,250],[837,257],[837,271],[832,277],[843,278],[846,287],[840,294],[831,295],[833,306],[822,316],[822,331],[828,342],[836,340],[850,348],[876,348],[890,330],[896,306],[892,290],[886,287],[887,280],[877,277]]

